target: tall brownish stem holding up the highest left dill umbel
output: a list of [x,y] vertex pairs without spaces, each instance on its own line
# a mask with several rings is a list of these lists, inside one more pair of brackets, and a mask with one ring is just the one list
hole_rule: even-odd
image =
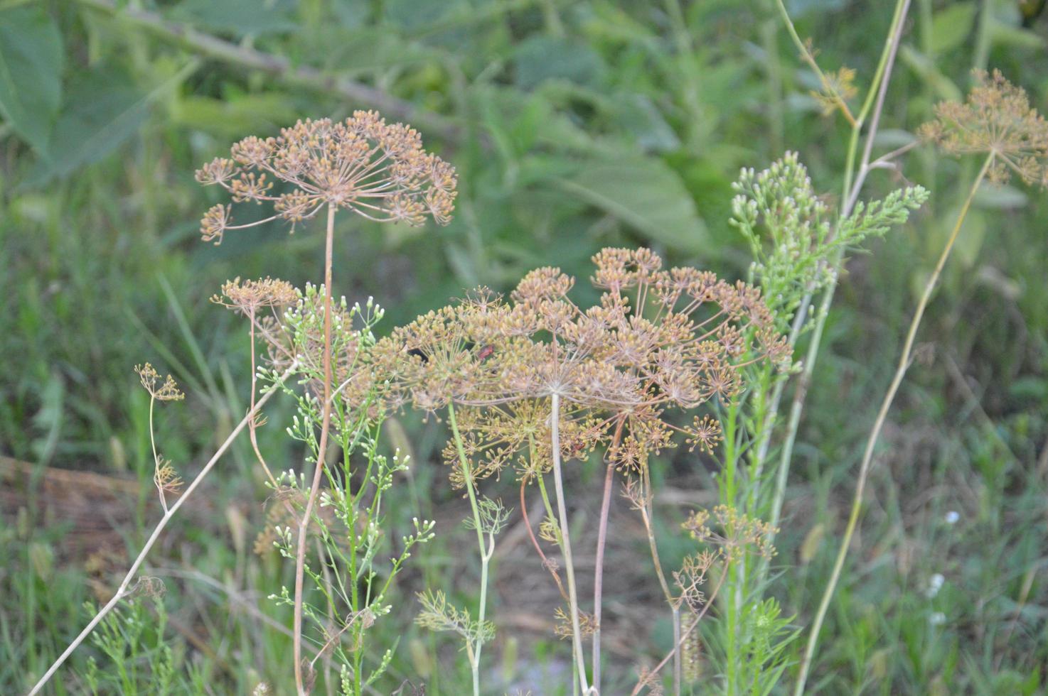
[[[336,206],[328,203],[327,235],[324,245],[324,402],[321,416],[321,439],[316,447],[316,467],[309,488],[309,498],[299,523],[299,542],[294,557],[294,686],[299,696],[307,696],[302,677],[302,590],[306,569],[306,535],[316,496],[320,494],[321,474],[324,471],[324,451],[327,449],[328,431],[331,429],[331,257],[334,246],[334,214]],[[359,674],[356,675],[357,680]]]

